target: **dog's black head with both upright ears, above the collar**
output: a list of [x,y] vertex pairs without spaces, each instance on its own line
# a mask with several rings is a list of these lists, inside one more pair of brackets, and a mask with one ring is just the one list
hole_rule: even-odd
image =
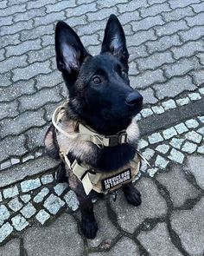
[[143,97],[130,86],[129,53],[118,18],[110,16],[99,55],[91,56],[64,22],[56,25],[55,51],[72,113],[101,134],[127,128],[142,109]]

